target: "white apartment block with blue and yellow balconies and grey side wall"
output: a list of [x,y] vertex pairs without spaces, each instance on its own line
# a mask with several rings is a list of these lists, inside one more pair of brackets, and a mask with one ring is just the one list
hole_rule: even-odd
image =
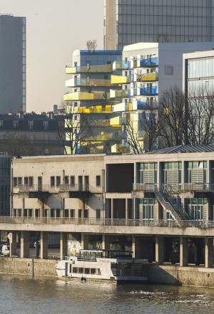
[[[111,75],[111,83],[119,89],[110,91],[110,97],[118,100],[113,112],[122,112],[123,125],[133,123],[133,137],[138,139],[142,150],[148,149],[142,112],[150,115],[158,109],[158,97],[172,86],[183,88],[183,53],[205,51],[213,43],[135,43],[123,48],[122,61],[113,63],[113,70],[122,70],[122,75]],[[211,71],[210,68],[209,71]],[[210,72],[209,72],[210,73]],[[127,130],[123,132],[127,133]],[[123,135],[121,148],[128,147]],[[156,143],[154,143],[156,147]],[[153,147],[153,148],[154,148]]]

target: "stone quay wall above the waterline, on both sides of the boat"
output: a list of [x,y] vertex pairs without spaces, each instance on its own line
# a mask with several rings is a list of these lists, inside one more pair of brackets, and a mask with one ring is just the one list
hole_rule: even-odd
[[[0,258],[0,273],[27,277],[57,277],[56,261],[35,258]],[[148,282],[214,288],[214,268],[148,265]]]

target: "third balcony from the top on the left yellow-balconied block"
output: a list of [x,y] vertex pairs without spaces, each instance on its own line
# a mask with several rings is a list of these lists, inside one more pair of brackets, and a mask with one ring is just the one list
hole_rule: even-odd
[[63,95],[63,100],[72,101],[72,100],[109,100],[109,93],[103,91],[98,92],[94,91],[92,93],[87,92],[75,92],[75,93],[66,93]]

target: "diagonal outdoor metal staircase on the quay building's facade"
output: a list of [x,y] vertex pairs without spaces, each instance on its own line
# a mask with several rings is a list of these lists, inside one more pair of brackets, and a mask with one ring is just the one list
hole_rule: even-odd
[[158,202],[161,203],[163,206],[163,209],[165,211],[168,211],[173,219],[175,220],[189,220],[190,217],[183,209],[182,204],[180,204],[179,198],[176,198],[173,194],[170,194],[167,187],[164,185],[161,185],[161,187],[156,186],[156,189],[154,191],[156,198],[158,199]]

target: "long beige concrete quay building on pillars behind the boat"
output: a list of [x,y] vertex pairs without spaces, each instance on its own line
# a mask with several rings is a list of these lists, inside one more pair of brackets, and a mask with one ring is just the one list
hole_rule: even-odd
[[[21,234],[29,257],[39,232],[60,234],[61,258],[79,248],[131,250],[150,263],[213,267],[214,146],[141,155],[66,155],[11,160],[11,216],[1,230]],[[16,243],[11,244],[12,253]]]

